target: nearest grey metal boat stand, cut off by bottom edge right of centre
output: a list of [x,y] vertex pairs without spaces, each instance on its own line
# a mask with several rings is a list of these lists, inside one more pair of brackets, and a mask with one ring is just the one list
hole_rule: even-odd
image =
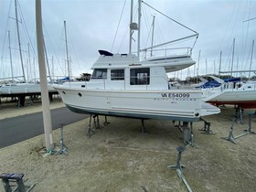
[[186,165],[180,164],[181,154],[182,154],[182,152],[184,152],[185,148],[183,146],[178,146],[176,148],[176,150],[178,152],[176,165],[168,165],[167,168],[176,169],[176,173],[181,178],[181,180],[183,181],[185,186],[187,187],[187,191],[192,192],[191,187],[188,185],[187,180],[186,180],[185,176],[183,175],[183,167],[185,167]]

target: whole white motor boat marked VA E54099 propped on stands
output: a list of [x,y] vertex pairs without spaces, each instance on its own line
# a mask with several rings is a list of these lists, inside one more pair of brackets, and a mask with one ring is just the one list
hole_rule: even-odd
[[219,108],[203,101],[201,89],[171,89],[167,76],[196,63],[191,51],[141,60],[130,51],[113,54],[99,50],[90,81],[54,88],[72,112],[196,122],[219,113]]

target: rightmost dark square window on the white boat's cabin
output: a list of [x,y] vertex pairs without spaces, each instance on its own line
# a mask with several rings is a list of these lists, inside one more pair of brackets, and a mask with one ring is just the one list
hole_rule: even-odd
[[149,85],[149,68],[131,69],[130,85]]

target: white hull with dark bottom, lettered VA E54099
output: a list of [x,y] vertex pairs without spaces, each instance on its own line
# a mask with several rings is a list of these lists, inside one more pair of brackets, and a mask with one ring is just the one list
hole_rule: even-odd
[[201,91],[106,91],[55,87],[72,112],[195,122],[219,113],[204,103]]

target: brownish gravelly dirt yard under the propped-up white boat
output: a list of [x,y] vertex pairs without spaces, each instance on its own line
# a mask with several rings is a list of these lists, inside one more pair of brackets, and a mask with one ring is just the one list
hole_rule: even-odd
[[[220,115],[206,118],[216,134],[203,134],[198,129],[204,123],[193,123],[195,146],[187,146],[181,157],[193,191],[255,191],[256,135],[240,137],[237,144],[220,139],[229,134],[232,114],[234,109],[227,107],[221,108]],[[234,135],[248,128],[248,116],[244,112],[244,124],[235,123]],[[24,173],[25,184],[35,184],[35,192],[187,191],[176,171],[167,168],[176,164],[176,147],[184,145],[173,123],[145,121],[149,133],[143,134],[140,120],[108,117],[107,126],[103,117],[100,120],[101,129],[90,138],[86,135],[89,119],[64,127],[69,155],[43,157],[44,135],[0,149],[0,172]],[[256,131],[255,116],[251,124]],[[53,134],[58,149],[60,132]],[[2,184],[0,191],[5,191]]]

